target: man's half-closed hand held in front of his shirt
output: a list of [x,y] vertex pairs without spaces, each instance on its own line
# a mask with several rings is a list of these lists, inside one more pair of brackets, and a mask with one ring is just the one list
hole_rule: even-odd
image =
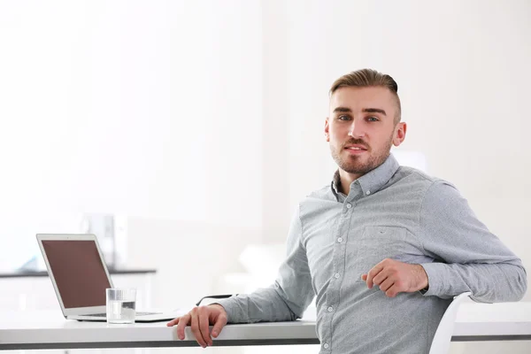
[[361,279],[372,289],[378,285],[386,296],[395,297],[398,293],[412,293],[427,288],[427,273],[420,265],[410,265],[386,258]]

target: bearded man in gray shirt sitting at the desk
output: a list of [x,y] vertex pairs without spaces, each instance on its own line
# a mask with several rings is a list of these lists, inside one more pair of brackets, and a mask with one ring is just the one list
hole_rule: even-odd
[[295,320],[317,296],[320,353],[427,353],[453,296],[521,299],[520,259],[458,190],[390,155],[405,133],[389,75],[364,69],[335,81],[325,135],[339,168],[298,205],[273,286],[196,307],[168,326],[183,339],[191,325],[205,347],[227,322]]

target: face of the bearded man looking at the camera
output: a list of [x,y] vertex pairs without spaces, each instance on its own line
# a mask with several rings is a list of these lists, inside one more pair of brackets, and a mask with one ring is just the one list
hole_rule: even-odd
[[389,157],[404,141],[405,123],[395,124],[396,99],[383,87],[344,87],[330,97],[325,135],[340,173],[358,178]]

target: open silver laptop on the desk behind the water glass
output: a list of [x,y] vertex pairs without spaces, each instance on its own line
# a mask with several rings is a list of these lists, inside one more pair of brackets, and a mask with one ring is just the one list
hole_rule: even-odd
[[[65,319],[106,321],[105,289],[113,288],[96,235],[37,235]],[[136,312],[135,322],[171,320],[186,312]]]

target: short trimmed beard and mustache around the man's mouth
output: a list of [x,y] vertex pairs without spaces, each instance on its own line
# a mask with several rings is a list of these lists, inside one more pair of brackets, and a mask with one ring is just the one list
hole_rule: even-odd
[[[374,168],[383,164],[383,162],[389,157],[391,150],[391,145],[393,143],[393,136],[389,138],[389,141],[381,147],[379,150],[374,150],[362,139],[350,139],[348,142],[342,144],[338,149],[332,144],[330,144],[330,151],[332,152],[332,158],[334,158],[335,163],[346,173],[363,175],[370,171],[373,171]],[[360,144],[366,147],[367,156],[352,156],[344,153],[346,145],[351,144]]]

